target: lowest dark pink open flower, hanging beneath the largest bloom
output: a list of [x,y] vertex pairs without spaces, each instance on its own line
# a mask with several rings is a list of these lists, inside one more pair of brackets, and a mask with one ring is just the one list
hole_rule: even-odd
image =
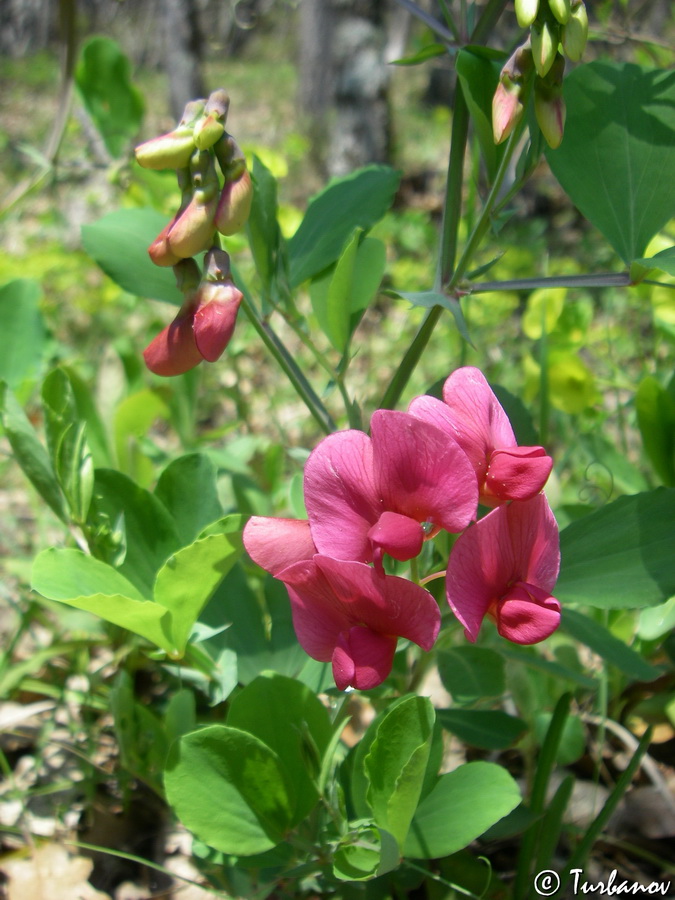
[[369,690],[391,671],[398,637],[433,646],[441,617],[428,591],[364,563],[316,555],[283,569],[298,641],[332,662],[340,690]]

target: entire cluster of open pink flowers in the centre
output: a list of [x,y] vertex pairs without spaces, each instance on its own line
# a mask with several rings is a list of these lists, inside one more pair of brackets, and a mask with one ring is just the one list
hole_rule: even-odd
[[[429,650],[438,636],[432,595],[384,560],[414,559],[441,530],[459,535],[446,595],[470,641],[486,615],[520,644],[555,630],[558,529],[542,493],[552,464],[543,447],[518,446],[482,373],[461,368],[442,401],[378,410],[370,436],[324,438],[305,466],[307,519],[254,516],[244,545],[286,585],[307,653],[332,662],[341,690],[369,689],[391,671],[399,637]],[[479,504],[492,509],[477,520]]]

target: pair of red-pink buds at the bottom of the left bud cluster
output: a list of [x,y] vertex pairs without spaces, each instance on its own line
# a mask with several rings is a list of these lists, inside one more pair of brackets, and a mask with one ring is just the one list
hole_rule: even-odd
[[[190,274],[196,266],[183,260]],[[176,266],[178,269],[179,266]],[[229,257],[212,247],[204,258],[204,276],[196,290],[187,290],[178,315],[143,351],[156,375],[181,375],[202,360],[215,362],[230,342],[242,301],[230,276]]]

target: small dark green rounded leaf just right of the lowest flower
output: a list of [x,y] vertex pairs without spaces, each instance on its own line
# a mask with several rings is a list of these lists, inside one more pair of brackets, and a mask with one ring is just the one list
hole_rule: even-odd
[[504,693],[504,660],[486,647],[460,646],[438,653],[438,674],[455,703]]

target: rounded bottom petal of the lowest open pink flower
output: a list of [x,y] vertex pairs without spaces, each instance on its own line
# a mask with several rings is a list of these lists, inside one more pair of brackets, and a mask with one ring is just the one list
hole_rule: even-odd
[[355,625],[339,636],[333,651],[335,684],[341,691],[350,686],[361,691],[377,687],[391,672],[395,652],[395,637]]

